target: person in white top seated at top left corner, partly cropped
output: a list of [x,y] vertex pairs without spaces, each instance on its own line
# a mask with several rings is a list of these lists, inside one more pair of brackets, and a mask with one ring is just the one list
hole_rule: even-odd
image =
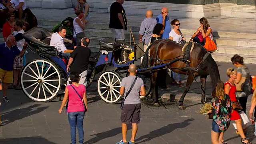
[[[14,4],[14,7],[12,7],[12,4]],[[6,8],[10,12],[14,12],[15,14],[18,13],[19,19],[22,19],[23,11],[27,8],[25,0],[10,0],[10,2],[7,3]]]

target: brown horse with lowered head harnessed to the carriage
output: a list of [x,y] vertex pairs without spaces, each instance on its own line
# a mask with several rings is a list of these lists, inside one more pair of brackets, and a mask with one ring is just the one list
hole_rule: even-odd
[[[158,46],[158,48],[156,48]],[[176,57],[182,58],[182,47],[183,45],[178,44],[176,42],[173,42],[172,40],[168,39],[162,39],[162,40],[157,40],[153,44],[149,46],[149,48],[146,50],[144,58],[142,60],[141,68],[148,67],[148,64],[150,66],[154,65],[161,65],[165,64],[167,62],[170,62],[171,59],[175,59]],[[150,62],[149,56],[148,56],[148,50],[150,49]],[[157,52],[156,52],[157,50]],[[194,49],[190,53],[190,59],[189,62],[187,63],[192,70],[189,70],[189,68],[180,70],[179,68],[185,68],[186,67],[186,62],[185,61],[177,61],[172,64],[170,64],[170,69],[172,69],[174,72],[179,73],[179,74],[188,74],[188,80],[186,82],[186,86],[184,89],[184,93],[182,94],[180,98],[180,109],[184,109],[185,107],[183,106],[183,101],[188,93],[190,86],[192,82],[194,81],[194,78],[197,76],[200,76],[200,81],[201,81],[201,88],[202,88],[202,99],[201,102],[205,102],[205,85],[206,85],[206,77],[210,75],[211,78],[211,83],[212,83],[212,96],[215,97],[215,86],[220,80],[220,73],[218,70],[218,66],[214,59],[212,58],[211,54],[208,56],[206,55],[208,53],[206,49],[200,45],[195,43],[194,44]],[[156,56],[157,54],[157,56]],[[207,56],[204,60],[204,56]],[[197,68],[198,67],[198,68]],[[197,68],[197,69],[196,69]],[[153,104],[154,106],[159,106],[158,102],[158,83],[160,84],[160,80],[165,80],[162,76],[166,76],[167,72],[166,69],[160,70],[158,72],[153,72],[152,74],[152,97],[153,97]]]

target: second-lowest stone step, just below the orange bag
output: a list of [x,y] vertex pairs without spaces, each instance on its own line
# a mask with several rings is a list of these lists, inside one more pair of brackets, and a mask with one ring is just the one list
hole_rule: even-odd
[[250,47],[238,47],[238,46],[222,46],[218,45],[218,50],[214,53],[222,53],[222,54],[239,54],[239,55],[248,55],[254,56],[256,54],[256,48]]

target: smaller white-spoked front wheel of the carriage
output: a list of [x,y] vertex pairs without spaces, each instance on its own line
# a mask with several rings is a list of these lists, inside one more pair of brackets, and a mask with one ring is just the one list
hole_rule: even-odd
[[119,93],[120,76],[114,71],[106,71],[98,79],[98,92],[102,100],[108,104],[119,102],[122,96]]

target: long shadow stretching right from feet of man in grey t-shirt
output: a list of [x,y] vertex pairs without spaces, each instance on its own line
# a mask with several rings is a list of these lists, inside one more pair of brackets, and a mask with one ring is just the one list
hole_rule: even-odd
[[[139,144],[139,143],[142,143],[142,142],[150,141],[150,140],[152,140],[154,138],[157,138],[159,136],[163,136],[164,134],[169,134],[170,132],[174,131],[177,128],[185,128],[193,120],[194,120],[194,118],[190,118],[188,120],[185,120],[184,122],[168,124],[167,126],[164,126],[162,128],[159,128],[157,130],[154,130],[154,131],[150,132],[149,134],[141,136],[140,138],[136,139],[136,141],[137,141],[136,143]],[[140,140],[142,140],[142,141],[140,141]]]

